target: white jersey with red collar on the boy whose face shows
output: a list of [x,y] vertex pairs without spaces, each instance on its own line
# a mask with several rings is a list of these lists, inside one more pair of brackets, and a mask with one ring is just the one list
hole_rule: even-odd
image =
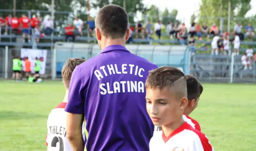
[[149,142],[150,151],[214,151],[208,138],[184,122],[170,136],[155,131]]

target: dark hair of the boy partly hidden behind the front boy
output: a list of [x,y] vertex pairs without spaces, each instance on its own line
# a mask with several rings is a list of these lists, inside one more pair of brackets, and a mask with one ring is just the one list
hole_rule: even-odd
[[185,77],[187,80],[187,99],[189,101],[197,100],[203,92],[203,86],[193,75],[186,75]]

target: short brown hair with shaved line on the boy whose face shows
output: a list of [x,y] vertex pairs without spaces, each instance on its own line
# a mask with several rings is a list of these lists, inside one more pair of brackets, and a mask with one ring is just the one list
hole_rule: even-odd
[[145,87],[159,88],[162,90],[167,87],[175,91],[176,99],[187,96],[187,82],[184,73],[175,67],[162,66],[149,71]]

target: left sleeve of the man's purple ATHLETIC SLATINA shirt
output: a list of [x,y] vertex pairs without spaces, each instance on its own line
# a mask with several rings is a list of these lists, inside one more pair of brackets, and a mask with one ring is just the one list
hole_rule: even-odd
[[84,85],[79,68],[75,68],[69,85],[69,97],[65,111],[73,114],[84,114]]

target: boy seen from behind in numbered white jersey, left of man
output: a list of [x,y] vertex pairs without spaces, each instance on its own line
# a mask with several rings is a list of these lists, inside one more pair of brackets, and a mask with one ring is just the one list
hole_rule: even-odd
[[[64,86],[66,88],[66,94],[63,102],[53,109],[47,120],[48,134],[46,135],[46,145],[48,151],[72,151],[72,147],[66,136],[66,125],[67,125],[67,112],[64,111],[69,94],[69,83],[72,72],[79,64],[85,60],[80,58],[68,59],[67,63],[63,66],[61,75]],[[85,136],[84,124],[82,127],[83,138]]]

